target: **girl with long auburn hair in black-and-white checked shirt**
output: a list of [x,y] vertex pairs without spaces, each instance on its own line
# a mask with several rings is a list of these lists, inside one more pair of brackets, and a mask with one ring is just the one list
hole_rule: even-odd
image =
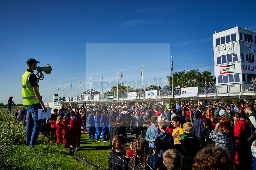
[[231,157],[236,155],[234,131],[228,119],[222,118],[210,132],[209,138],[215,141],[216,146],[226,148]]

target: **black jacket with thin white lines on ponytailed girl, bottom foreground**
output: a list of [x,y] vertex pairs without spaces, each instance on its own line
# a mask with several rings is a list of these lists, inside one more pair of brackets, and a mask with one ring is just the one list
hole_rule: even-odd
[[129,158],[122,155],[120,152],[111,152],[108,156],[109,168],[108,170],[127,170],[128,163],[130,161]]

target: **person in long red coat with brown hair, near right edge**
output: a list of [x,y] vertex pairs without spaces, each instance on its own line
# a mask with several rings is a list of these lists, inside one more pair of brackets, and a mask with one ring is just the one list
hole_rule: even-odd
[[235,120],[234,133],[237,153],[235,156],[236,169],[251,169],[252,156],[250,147],[247,145],[247,138],[251,135],[250,125],[238,112],[234,113]]

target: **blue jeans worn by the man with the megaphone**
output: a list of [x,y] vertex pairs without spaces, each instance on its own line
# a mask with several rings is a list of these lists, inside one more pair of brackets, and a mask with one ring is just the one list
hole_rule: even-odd
[[[38,134],[41,130],[42,121],[37,120],[38,109],[42,109],[40,103],[26,106],[28,110],[26,125],[27,146],[35,147]],[[34,129],[33,129],[34,127]],[[33,129],[33,132],[32,132]]]

